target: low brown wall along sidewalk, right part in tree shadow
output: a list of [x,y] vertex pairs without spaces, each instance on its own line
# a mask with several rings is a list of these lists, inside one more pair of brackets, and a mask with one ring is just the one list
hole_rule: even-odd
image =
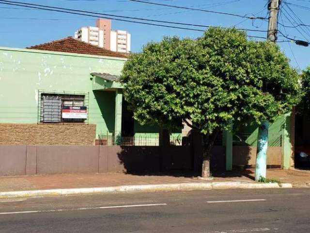
[[0,176],[190,169],[187,146],[0,145]]

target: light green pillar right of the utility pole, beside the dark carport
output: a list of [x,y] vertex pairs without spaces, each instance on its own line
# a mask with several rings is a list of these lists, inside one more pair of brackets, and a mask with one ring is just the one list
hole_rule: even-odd
[[282,153],[283,153],[283,168],[289,169],[291,166],[291,113],[284,115],[284,122],[282,127]]

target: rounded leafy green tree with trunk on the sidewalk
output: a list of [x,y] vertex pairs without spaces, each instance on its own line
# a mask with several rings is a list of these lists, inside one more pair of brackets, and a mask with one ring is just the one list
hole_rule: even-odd
[[210,176],[217,134],[290,111],[297,79],[277,45],[248,41],[234,28],[210,28],[197,40],[150,42],[129,56],[121,75],[124,98],[140,124],[174,130],[186,122],[202,133],[202,177]]

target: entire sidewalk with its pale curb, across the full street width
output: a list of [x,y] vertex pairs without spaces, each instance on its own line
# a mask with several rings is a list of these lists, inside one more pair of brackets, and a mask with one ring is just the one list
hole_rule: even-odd
[[[294,187],[310,186],[309,171],[268,170],[267,177],[280,183],[292,183]],[[95,192],[284,187],[278,183],[255,183],[253,179],[252,170],[215,173],[214,179],[210,181],[201,180],[197,178],[197,174],[192,173],[93,173],[0,177],[0,198],[4,198],[5,195],[14,196],[14,193],[20,197],[22,194],[54,196]]]

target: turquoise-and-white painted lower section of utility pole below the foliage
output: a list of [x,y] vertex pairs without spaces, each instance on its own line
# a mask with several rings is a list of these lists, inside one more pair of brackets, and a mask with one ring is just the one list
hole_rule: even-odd
[[267,120],[258,128],[255,181],[259,181],[261,177],[266,178],[268,128],[269,122]]

